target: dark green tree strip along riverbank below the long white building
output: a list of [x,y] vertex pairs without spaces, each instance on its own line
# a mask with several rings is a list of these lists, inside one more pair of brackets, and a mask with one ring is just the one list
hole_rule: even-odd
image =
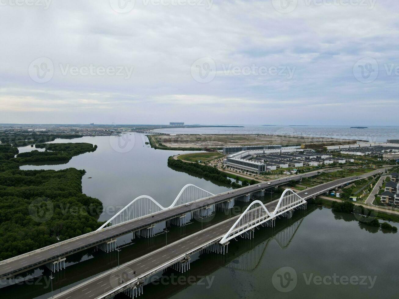
[[[185,171],[190,171],[192,173],[202,175],[203,177],[206,177],[208,179],[213,179],[213,180],[221,182],[221,183],[232,185],[233,187],[243,187],[243,186],[255,185],[255,184],[259,183],[258,181],[255,181],[255,180],[244,179],[242,177],[239,177],[238,175],[227,174],[223,171],[220,171],[216,167],[202,165],[199,163],[184,162],[182,160],[175,160],[173,157],[168,158],[168,166],[176,167],[178,169],[182,169]],[[242,181],[242,185],[239,185],[236,182],[231,182],[227,177],[231,177],[232,179]]]

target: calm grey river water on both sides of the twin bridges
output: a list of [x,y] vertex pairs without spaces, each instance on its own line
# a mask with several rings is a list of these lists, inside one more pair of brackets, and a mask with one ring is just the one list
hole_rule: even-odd
[[[100,220],[110,218],[113,209],[118,210],[144,194],[166,207],[188,183],[212,193],[229,189],[228,186],[170,169],[167,158],[180,152],[155,150],[145,145],[145,141],[141,134],[126,135],[122,139],[85,137],[56,140],[90,142],[97,144],[98,149],[94,153],[74,157],[67,164],[26,165],[21,169],[85,169],[83,192],[103,202],[105,212]],[[20,151],[31,149],[20,148]],[[279,193],[267,194],[263,201],[277,197]],[[218,212],[210,222],[202,225],[210,226],[229,216],[228,213]],[[171,228],[167,236],[159,228],[160,233],[149,240],[135,239],[133,242],[131,236],[119,238],[119,245],[126,244],[120,252],[120,263],[200,229],[201,223],[194,220],[184,228]],[[184,275],[168,271],[163,279],[149,281],[141,297],[397,298],[398,248],[399,234],[359,225],[351,214],[337,214],[330,209],[308,205],[306,211],[296,211],[290,220],[277,220],[275,228],[256,230],[253,240],[232,241],[225,256],[194,256],[190,271]],[[77,261],[81,262],[74,264]],[[117,266],[118,257],[116,252],[105,254],[87,250],[69,257],[67,262],[69,266],[55,275],[54,293]],[[38,269],[30,275],[35,277],[33,283],[4,287],[0,297],[51,297],[50,285],[46,283],[48,271]],[[124,295],[117,297],[126,298]]]

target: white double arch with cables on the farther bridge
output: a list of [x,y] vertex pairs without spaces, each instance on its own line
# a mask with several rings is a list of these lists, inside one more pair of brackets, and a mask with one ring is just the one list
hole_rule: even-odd
[[[184,186],[183,189],[179,192],[173,203],[166,208],[162,207],[162,205],[160,205],[152,197],[148,195],[142,195],[135,198],[131,203],[129,203],[122,210],[120,210],[117,214],[115,214],[110,220],[105,222],[97,230],[102,230],[107,226],[121,224],[130,220],[136,220],[144,216],[176,208],[182,205],[188,205],[190,203],[194,203],[195,201],[199,201],[201,199],[205,199],[213,195],[214,195],[213,193],[201,189],[196,185],[188,184]],[[183,221],[184,219],[172,219],[172,220]],[[182,223],[176,223],[176,224],[182,225]]]

